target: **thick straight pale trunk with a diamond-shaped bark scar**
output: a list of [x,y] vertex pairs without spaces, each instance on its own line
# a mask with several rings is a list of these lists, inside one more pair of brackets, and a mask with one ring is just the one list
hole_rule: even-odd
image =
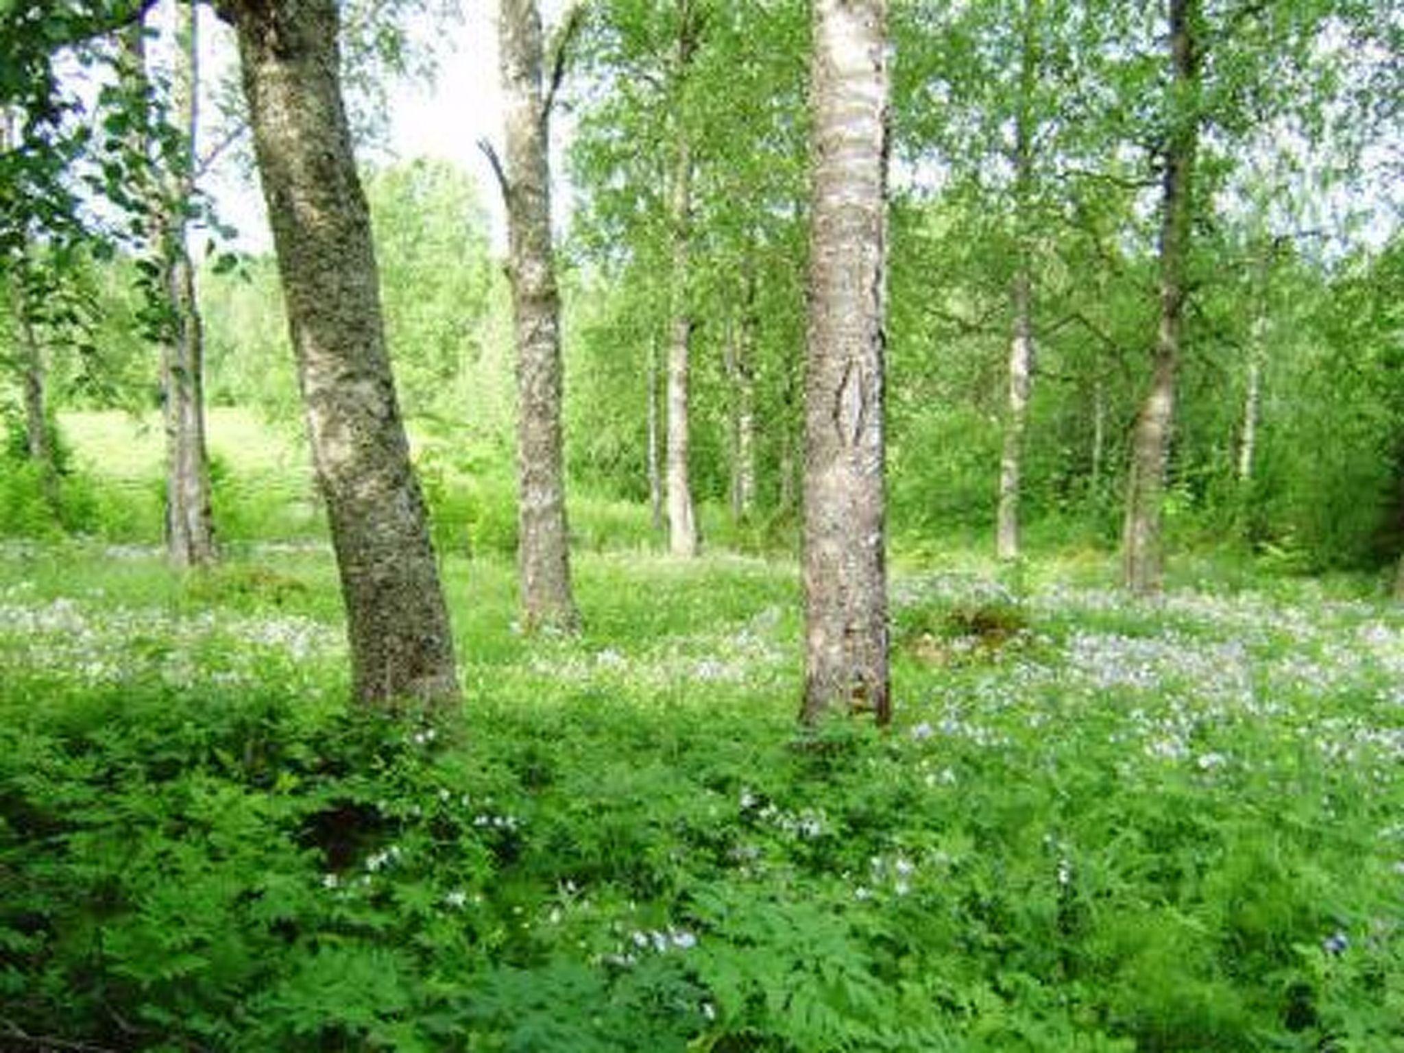
[[813,18],[800,716],[863,709],[887,723],[887,4],[814,0]]

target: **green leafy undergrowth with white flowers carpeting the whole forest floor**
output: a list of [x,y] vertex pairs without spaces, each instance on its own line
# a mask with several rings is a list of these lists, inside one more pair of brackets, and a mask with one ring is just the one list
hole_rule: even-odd
[[806,739],[783,567],[585,557],[578,640],[445,570],[428,726],[324,555],[0,556],[0,1047],[1404,1049],[1396,609],[908,573]]

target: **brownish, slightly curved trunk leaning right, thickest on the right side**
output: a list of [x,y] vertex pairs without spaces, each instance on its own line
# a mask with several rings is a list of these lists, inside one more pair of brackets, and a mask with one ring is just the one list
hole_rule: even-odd
[[1199,55],[1195,31],[1199,0],[1170,0],[1172,128],[1165,146],[1160,226],[1160,327],[1151,385],[1136,418],[1126,489],[1122,559],[1126,587],[1137,594],[1161,588],[1163,505],[1170,435],[1175,411],[1175,372],[1184,331],[1193,208],[1195,153],[1199,145]]

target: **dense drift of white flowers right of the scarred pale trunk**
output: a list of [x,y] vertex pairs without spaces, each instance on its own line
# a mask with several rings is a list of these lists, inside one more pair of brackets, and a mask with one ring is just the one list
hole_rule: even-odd
[[[952,608],[1008,601],[998,585],[955,576],[894,595]],[[1057,722],[1099,716],[1127,758],[1221,778],[1252,767],[1230,748],[1251,724],[1387,779],[1404,758],[1390,716],[1404,705],[1404,616],[1383,604],[1307,600],[1171,592],[1144,602],[1118,590],[1039,590],[1019,601],[1029,619],[1073,628],[938,682],[908,703],[908,741],[931,757],[952,741],[994,750],[1021,727],[1038,741]],[[945,783],[935,771],[924,781]]]

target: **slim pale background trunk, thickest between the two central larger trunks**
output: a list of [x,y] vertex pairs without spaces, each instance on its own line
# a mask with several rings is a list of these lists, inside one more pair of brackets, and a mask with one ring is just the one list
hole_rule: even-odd
[[[696,49],[691,0],[678,3],[677,83],[684,84]],[[675,115],[670,225],[673,230],[671,320],[668,323],[668,549],[674,556],[698,553],[696,514],[688,472],[691,417],[688,358],[692,347],[692,145],[682,114]]]

